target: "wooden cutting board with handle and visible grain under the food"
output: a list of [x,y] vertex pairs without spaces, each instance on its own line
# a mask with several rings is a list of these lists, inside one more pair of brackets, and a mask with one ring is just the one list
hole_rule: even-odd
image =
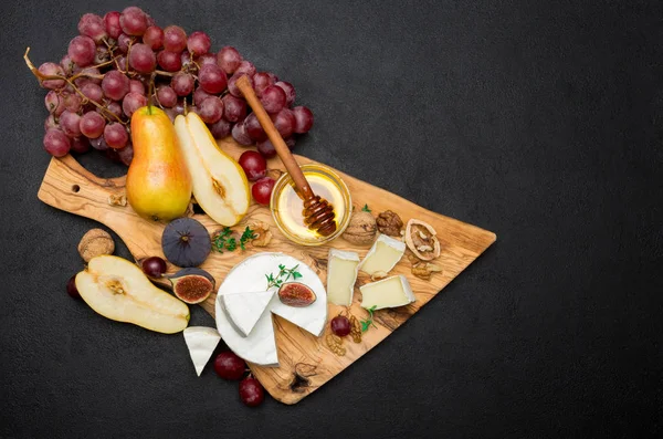
[[[219,145],[235,159],[246,150],[235,144],[232,138],[220,140]],[[297,156],[297,161],[301,165],[314,163],[301,156]],[[277,158],[269,160],[269,166],[271,169],[283,169]],[[290,322],[274,316],[281,365],[262,367],[250,364],[250,367],[265,389],[284,404],[299,401],[382,342],[446,286],[496,239],[493,232],[431,212],[383,189],[344,173],[337,173],[350,189],[356,208],[368,203],[373,215],[390,209],[399,213],[403,222],[417,218],[432,224],[438,231],[442,244],[442,254],[436,263],[442,266],[443,271],[433,274],[428,281],[421,280],[411,274],[410,262],[403,258],[390,274],[404,274],[410,281],[417,301],[408,306],[376,312],[377,327],[371,327],[364,333],[359,344],[354,343],[351,337],[345,337],[344,346],[347,353],[343,357],[332,353],[325,343],[325,336],[329,333],[328,325],[320,337],[315,337]],[[98,178],[84,169],[73,157],[66,156],[51,160],[39,190],[39,199],[57,209],[94,219],[110,228],[124,240],[136,260],[151,255],[162,258],[161,232],[165,224],[141,219],[128,205],[122,207],[112,206],[108,202],[110,196],[118,197],[124,192],[125,177]],[[210,232],[220,229],[219,224],[204,215],[194,215],[193,218],[202,222]],[[259,205],[252,205],[244,220],[233,230],[241,232],[246,222],[252,220],[263,221],[271,226],[270,230],[274,236],[272,242],[263,249],[248,248],[243,252],[236,250],[223,254],[212,252],[202,268],[214,275],[218,285],[236,263],[261,251],[280,251],[295,257],[311,265],[325,283],[329,247],[357,251],[361,258],[368,251],[368,248],[352,247],[343,239],[337,239],[330,245],[324,247],[311,248],[294,244],[281,234],[272,220],[270,209]],[[177,269],[169,264],[169,272],[175,271]],[[359,320],[366,318],[368,313],[359,306],[361,293],[358,286],[369,281],[370,279],[365,273],[359,273],[354,303],[349,309],[349,312]],[[215,294],[201,304],[212,316],[214,315],[214,300]],[[333,304],[328,306],[329,318],[344,311],[343,306]]]

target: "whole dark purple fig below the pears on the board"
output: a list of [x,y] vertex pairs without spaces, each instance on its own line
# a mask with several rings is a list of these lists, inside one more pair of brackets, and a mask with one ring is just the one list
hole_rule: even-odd
[[167,260],[178,266],[198,266],[212,250],[204,226],[192,218],[179,218],[164,229],[161,248]]

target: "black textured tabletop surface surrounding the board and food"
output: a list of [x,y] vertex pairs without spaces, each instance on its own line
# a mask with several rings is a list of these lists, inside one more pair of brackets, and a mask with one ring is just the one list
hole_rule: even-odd
[[[96,224],[36,199],[46,112],[21,55],[57,61],[82,13],[128,3],[6,1],[0,436],[661,432],[661,2],[330,3],[139,4],[295,84],[316,115],[298,153],[497,242],[301,404],[245,408],[235,383],[196,377],[180,335],[71,300]],[[192,323],[213,324],[201,309]]]

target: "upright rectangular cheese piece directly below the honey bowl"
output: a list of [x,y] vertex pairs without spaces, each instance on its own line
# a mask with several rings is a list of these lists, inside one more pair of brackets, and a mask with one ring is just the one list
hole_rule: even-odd
[[336,305],[350,306],[359,271],[359,254],[329,249],[327,258],[327,300]]

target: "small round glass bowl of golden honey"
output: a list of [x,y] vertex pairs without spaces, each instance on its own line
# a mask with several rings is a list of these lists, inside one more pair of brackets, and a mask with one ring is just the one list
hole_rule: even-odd
[[303,165],[301,168],[313,192],[334,207],[336,231],[323,237],[308,229],[304,223],[304,202],[297,196],[295,184],[287,173],[274,185],[270,209],[276,227],[287,239],[301,245],[322,245],[338,238],[348,227],[352,213],[350,191],[340,177],[326,166]]

